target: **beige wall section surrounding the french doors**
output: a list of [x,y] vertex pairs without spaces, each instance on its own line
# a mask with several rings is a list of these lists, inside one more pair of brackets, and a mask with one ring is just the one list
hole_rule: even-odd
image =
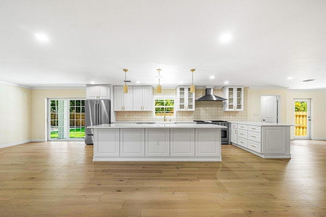
[[35,89],[32,90],[32,138],[47,140],[47,98],[86,98],[86,89]]

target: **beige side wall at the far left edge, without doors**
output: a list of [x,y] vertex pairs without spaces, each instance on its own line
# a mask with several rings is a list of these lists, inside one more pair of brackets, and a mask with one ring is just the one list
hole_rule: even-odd
[[0,83],[0,147],[32,140],[32,90]]

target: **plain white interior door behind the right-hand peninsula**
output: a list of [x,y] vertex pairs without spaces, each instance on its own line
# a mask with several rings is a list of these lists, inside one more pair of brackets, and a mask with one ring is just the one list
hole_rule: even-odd
[[260,121],[278,123],[279,96],[260,96]]

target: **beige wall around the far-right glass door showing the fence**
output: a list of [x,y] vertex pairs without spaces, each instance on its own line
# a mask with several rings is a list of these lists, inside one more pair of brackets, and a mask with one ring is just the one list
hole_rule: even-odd
[[[311,126],[313,140],[326,140],[326,91],[287,91],[287,122],[294,123],[294,99],[311,99]],[[291,136],[294,127],[291,127]]]

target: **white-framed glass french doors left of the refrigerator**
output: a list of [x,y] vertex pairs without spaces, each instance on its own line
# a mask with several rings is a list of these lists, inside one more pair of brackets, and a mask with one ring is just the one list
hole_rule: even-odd
[[48,141],[85,140],[85,100],[48,99]]

